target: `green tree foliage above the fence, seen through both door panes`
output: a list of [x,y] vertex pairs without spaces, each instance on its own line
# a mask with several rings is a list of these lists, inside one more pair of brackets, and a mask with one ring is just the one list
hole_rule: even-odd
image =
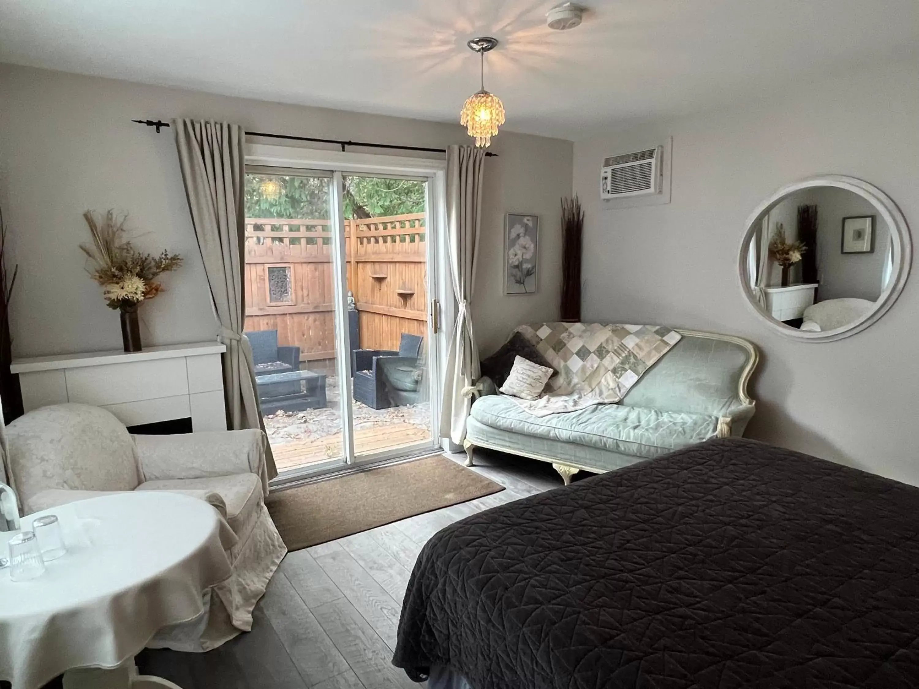
[[[246,175],[247,218],[323,220],[329,180],[297,175]],[[345,177],[345,217],[380,218],[425,210],[425,183],[387,177]]]

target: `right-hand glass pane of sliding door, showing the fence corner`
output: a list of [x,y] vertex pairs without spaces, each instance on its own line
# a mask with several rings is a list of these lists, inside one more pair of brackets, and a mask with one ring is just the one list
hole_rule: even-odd
[[354,446],[430,444],[427,182],[344,175]]

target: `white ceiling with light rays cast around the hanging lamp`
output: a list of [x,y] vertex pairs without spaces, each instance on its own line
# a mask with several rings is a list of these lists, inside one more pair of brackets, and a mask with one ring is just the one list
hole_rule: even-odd
[[479,87],[465,42],[485,34],[506,128],[575,139],[919,55],[916,0],[584,0],[564,32],[545,25],[553,5],[4,0],[0,62],[453,122]]

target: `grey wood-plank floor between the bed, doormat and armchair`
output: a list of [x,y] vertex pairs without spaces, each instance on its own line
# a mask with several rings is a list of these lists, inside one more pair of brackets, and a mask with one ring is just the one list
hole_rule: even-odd
[[532,459],[477,452],[476,464],[505,491],[289,553],[251,632],[209,653],[144,650],[140,671],[182,689],[415,689],[391,657],[425,541],[465,516],[562,485],[549,464]]

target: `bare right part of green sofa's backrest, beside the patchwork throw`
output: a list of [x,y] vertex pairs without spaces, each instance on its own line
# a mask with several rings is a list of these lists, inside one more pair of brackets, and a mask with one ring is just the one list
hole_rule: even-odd
[[753,404],[746,392],[758,357],[753,344],[717,333],[680,333],[682,339],[635,383],[623,406],[724,416]]

